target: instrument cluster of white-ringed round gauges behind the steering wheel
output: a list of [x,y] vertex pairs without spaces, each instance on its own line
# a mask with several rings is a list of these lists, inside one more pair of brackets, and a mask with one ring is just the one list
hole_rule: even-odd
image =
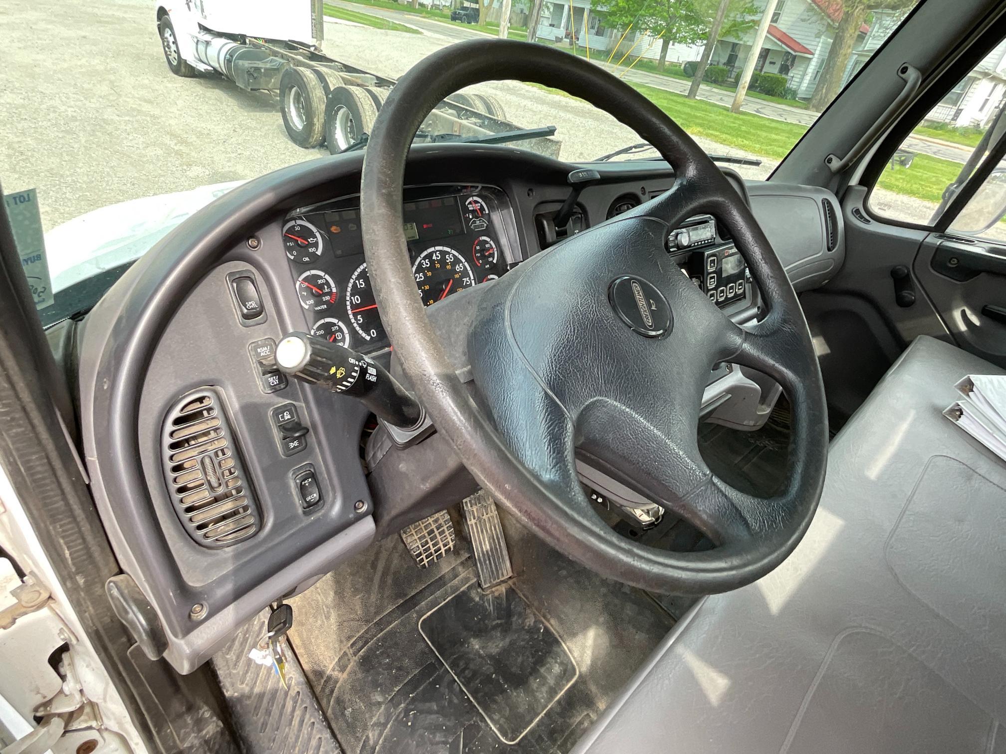
[[[358,201],[337,199],[292,214],[283,244],[312,335],[373,354],[389,344],[363,257]],[[426,306],[495,279],[519,260],[509,212],[506,195],[490,186],[406,190],[402,224]]]

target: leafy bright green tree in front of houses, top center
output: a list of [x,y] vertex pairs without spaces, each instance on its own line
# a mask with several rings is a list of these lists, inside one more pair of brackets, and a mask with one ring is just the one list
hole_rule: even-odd
[[709,21],[702,14],[703,0],[594,0],[593,9],[614,27],[648,31],[659,36],[660,61],[657,67],[667,64],[667,50],[672,42],[696,44],[704,41],[709,31]]

